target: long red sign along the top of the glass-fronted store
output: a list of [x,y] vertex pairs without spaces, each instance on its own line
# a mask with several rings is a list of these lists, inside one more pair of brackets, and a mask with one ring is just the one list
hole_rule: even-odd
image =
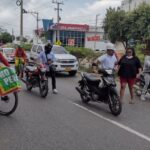
[[89,26],[88,25],[78,25],[78,24],[63,24],[59,23],[53,26],[54,29],[59,30],[71,30],[71,31],[88,31]]

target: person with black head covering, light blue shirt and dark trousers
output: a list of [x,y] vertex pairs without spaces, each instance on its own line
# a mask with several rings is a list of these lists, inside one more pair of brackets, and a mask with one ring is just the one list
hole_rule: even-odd
[[45,51],[41,52],[39,54],[39,58],[42,62],[42,64],[45,64],[47,66],[47,71],[50,73],[50,76],[52,78],[52,89],[53,93],[57,94],[58,91],[56,89],[56,77],[55,77],[55,66],[53,65],[53,62],[55,61],[55,56],[52,51],[52,45],[48,43],[45,45]]

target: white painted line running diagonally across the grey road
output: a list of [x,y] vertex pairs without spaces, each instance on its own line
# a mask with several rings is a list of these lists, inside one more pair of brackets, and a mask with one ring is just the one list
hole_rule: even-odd
[[86,110],[86,111],[90,112],[91,114],[93,114],[93,115],[95,115],[95,116],[97,116],[97,117],[99,117],[99,118],[101,118],[101,119],[103,119],[103,120],[109,122],[109,123],[112,123],[112,124],[114,124],[114,125],[116,125],[116,126],[122,128],[122,129],[128,131],[129,133],[132,133],[132,134],[134,134],[134,135],[136,135],[136,136],[138,136],[138,137],[140,137],[140,138],[142,138],[142,139],[144,139],[144,140],[150,142],[150,137],[148,137],[148,136],[146,136],[146,135],[144,135],[144,134],[142,134],[142,133],[140,133],[140,132],[138,132],[138,131],[136,131],[136,130],[134,130],[134,129],[128,127],[128,126],[125,126],[125,125],[123,125],[123,124],[121,124],[121,123],[118,123],[118,122],[116,122],[116,121],[114,121],[114,120],[108,119],[108,118],[106,118],[106,117],[104,117],[104,116],[102,116],[102,115],[100,115],[100,114],[98,114],[98,113],[96,113],[96,112],[94,112],[94,111],[92,111],[92,110],[89,110],[89,109],[87,109],[87,108],[85,108],[85,107],[83,107],[83,106],[81,106],[81,105],[79,105],[79,104],[77,104],[77,103],[73,103],[73,104],[74,104],[75,106],[77,106],[77,107],[79,107],[79,108],[81,108],[81,109],[83,109],[83,110]]

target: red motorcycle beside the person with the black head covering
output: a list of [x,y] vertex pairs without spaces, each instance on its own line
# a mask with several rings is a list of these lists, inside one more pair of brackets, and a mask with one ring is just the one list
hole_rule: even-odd
[[35,63],[28,63],[25,66],[25,83],[28,91],[39,87],[41,97],[48,94],[48,78],[46,76],[46,67]]

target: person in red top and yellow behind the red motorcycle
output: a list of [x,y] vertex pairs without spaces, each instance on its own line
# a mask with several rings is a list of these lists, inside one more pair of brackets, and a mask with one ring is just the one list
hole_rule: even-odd
[[[25,53],[25,50],[20,45],[18,45],[18,47],[16,48],[16,51],[15,51],[15,68],[16,68],[16,72],[20,72],[18,70],[19,69],[18,68],[19,63],[22,63],[24,65],[26,60],[27,60],[27,55]],[[18,75],[22,78],[23,77],[23,72],[21,72]]]

